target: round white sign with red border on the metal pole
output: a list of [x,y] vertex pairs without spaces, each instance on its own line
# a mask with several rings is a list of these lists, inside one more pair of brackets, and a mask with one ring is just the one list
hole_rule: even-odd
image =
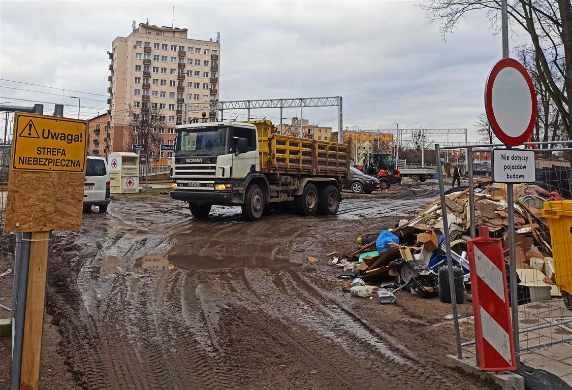
[[509,146],[529,140],[537,117],[533,81],[520,62],[503,58],[488,75],[484,106],[496,137]]

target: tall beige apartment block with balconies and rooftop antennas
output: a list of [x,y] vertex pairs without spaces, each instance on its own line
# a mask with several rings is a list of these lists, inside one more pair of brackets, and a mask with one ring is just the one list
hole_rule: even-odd
[[[185,105],[219,99],[220,42],[188,39],[187,33],[187,29],[140,23],[128,37],[113,40],[108,78],[110,152],[131,150],[130,107],[142,115],[158,109],[165,126],[156,131],[164,145],[174,145],[174,126],[185,122]],[[188,120],[201,117],[200,112],[188,114]],[[160,154],[170,157],[172,152]]]

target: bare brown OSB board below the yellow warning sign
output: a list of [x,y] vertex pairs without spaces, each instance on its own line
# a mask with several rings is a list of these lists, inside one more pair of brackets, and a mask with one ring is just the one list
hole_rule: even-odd
[[10,170],[5,232],[80,230],[84,173]]

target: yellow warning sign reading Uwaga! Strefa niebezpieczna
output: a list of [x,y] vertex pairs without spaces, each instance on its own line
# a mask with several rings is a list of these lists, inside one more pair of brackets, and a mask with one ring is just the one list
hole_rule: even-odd
[[16,113],[12,169],[85,172],[88,122]]

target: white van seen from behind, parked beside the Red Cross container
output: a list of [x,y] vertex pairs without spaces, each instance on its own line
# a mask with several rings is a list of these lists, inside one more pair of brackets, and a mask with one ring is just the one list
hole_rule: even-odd
[[107,161],[103,157],[88,156],[85,167],[84,211],[91,210],[92,206],[98,206],[100,213],[105,213],[111,202],[110,190]]

